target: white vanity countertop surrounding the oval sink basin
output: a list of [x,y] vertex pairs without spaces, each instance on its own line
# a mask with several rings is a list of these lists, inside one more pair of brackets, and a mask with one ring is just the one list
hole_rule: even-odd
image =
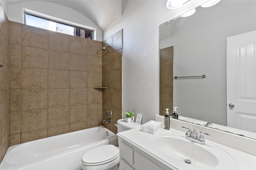
[[[162,154],[162,152],[159,152],[159,150],[157,150],[156,147],[152,147],[152,144],[150,144],[149,139],[152,138],[153,135],[156,135],[161,132],[180,133],[180,134],[184,134],[184,138],[185,138],[184,132],[182,132],[180,130],[173,129],[173,128],[170,128],[170,130],[161,128],[155,134],[143,132],[140,130],[140,128],[135,128],[135,129],[131,129],[131,130],[127,130],[127,131],[118,133],[118,137],[124,138],[125,140],[128,140],[128,142],[132,142],[133,144],[138,146],[138,148],[141,148],[142,150],[150,152],[153,156],[156,156],[158,159],[166,162],[167,164],[170,164],[170,167],[174,166],[177,169],[197,169],[197,170],[205,170],[206,169],[205,167],[198,167],[198,166],[195,167],[195,166],[191,166],[190,164],[181,164],[174,158],[167,158],[164,154]],[[228,146],[224,146],[224,145],[216,143],[216,142],[212,142],[210,140],[206,140],[206,145],[204,145],[204,146],[207,146],[207,143],[218,146],[219,148],[224,150],[226,153],[228,153],[234,159],[233,162],[236,162],[236,165],[234,165],[235,163],[232,165],[227,165],[227,167],[229,167],[230,169],[256,170],[256,156],[254,156],[252,154],[248,154],[246,152],[242,152],[240,150],[236,150],[234,148],[230,148]],[[218,168],[218,166],[216,166],[216,167],[210,167],[207,169],[213,170],[213,169],[220,169],[220,168]]]

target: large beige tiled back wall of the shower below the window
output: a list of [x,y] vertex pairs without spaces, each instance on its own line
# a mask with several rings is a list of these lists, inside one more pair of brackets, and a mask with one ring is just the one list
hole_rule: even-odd
[[102,125],[102,42],[10,22],[10,146]]

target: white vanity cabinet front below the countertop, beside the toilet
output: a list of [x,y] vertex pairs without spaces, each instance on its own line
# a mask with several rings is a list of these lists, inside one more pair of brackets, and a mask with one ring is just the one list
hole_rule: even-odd
[[120,149],[120,170],[166,170],[164,162],[142,148],[118,136]]

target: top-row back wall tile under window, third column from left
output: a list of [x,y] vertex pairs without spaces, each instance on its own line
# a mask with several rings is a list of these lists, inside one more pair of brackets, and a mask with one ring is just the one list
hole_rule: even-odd
[[48,32],[48,49],[69,52],[69,35],[58,32]]

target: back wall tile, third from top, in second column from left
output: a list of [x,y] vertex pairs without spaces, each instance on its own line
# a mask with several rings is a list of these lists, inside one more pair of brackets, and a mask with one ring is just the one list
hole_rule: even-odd
[[22,67],[22,89],[47,89],[48,70]]

